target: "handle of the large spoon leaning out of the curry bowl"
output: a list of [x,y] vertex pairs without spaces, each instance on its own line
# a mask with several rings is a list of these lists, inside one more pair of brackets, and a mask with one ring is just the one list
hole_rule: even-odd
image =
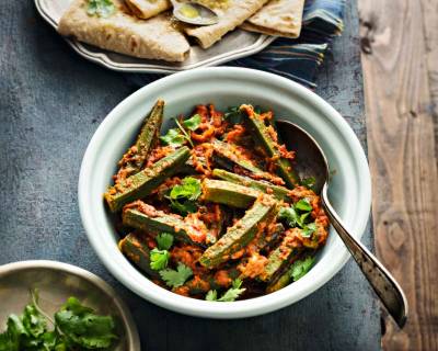
[[399,283],[383,264],[360,241],[354,238],[345,228],[339,216],[330,204],[327,196],[327,183],[322,189],[322,205],[330,222],[336,229],[341,239],[348,248],[360,270],[380,297],[388,312],[394,318],[400,328],[403,328],[407,318],[407,301]]

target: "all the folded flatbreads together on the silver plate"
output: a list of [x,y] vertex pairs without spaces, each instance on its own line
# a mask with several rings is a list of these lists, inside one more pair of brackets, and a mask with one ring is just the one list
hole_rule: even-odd
[[205,49],[237,27],[298,37],[304,0],[228,0],[214,9],[219,22],[208,26],[174,25],[169,0],[106,0],[114,4],[108,16],[90,14],[90,1],[73,0],[59,22],[61,35],[129,56],[183,61],[191,50],[186,35]]

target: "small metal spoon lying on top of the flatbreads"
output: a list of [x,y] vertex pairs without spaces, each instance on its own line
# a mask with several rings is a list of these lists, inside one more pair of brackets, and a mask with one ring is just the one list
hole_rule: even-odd
[[211,25],[219,22],[219,16],[209,8],[195,2],[171,0],[173,15],[181,22],[195,25]]

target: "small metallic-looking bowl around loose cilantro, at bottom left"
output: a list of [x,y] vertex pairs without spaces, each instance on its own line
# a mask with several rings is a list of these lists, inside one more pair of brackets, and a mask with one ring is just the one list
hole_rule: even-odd
[[[0,267],[0,322],[20,315],[31,303],[30,291],[37,288],[38,303],[53,316],[69,298],[117,320],[119,342],[114,351],[140,351],[140,339],[129,309],[102,279],[79,267],[57,261],[22,261]],[[0,325],[0,329],[3,325]]]

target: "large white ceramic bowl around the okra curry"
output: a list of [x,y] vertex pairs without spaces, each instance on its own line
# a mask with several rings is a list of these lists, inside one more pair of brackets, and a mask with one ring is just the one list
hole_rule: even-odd
[[293,304],[326,283],[348,259],[347,249],[332,230],[313,269],[289,286],[262,297],[233,303],[210,303],[169,292],[149,281],[117,248],[102,194],[116,163],[131,145],[136,133],[157,99],[165,100],[164,128],[170,118],[189,114],[199,103],[219,110],[241,103],[273,109],[276,116],[307,129],[323,148],[335,176],[331,201],[353,235],[360,238],[371,205],[370,176],[356,135],[328,103],[300,84],[272,73],[245,68],[205,68],[162,78],[120,102],[95,132],[82,161],[79,206],[89,240],[106,268],[123,284],[146,299],[187,315],[242,318]]

